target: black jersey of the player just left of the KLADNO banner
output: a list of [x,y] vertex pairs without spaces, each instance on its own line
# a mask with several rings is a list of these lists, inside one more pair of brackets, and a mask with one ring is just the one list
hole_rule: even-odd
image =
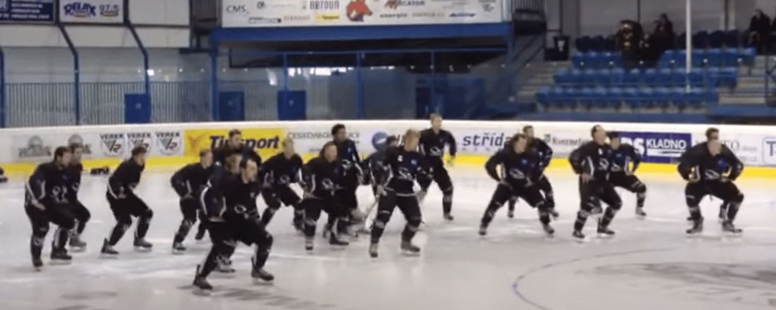
[[600,146],[591,141],[573,150],[569,156],[569,162],[576,174],[590,174],[598,181],[608,181],[610,157],[610,146]]

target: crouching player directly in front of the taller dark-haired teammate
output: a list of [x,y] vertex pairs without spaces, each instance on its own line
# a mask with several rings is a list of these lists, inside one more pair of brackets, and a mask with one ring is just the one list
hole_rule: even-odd
[[[327,142],[318,157],[307,161],[302,168],[304,198],[301,205],[304,209],[304,248],[308,251],[313,250],[316,223],[321,211],[327,212],[329,218],[334,219],[334,223],[326,227],[329,244],[348,245],[348,242],[339,238],[338,233],[348,226],[348,207],[342,205],[334,194],[341,186],[340,182],[346,169],[337,158],[337,145],[334,142]],[[335,224],[337,229],[334,229]]]

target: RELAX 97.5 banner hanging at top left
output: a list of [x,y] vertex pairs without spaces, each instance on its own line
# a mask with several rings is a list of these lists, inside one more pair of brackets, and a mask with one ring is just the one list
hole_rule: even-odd
[[124,1],[60,0],[59,20],[61,22],[121,23],[124,21]]

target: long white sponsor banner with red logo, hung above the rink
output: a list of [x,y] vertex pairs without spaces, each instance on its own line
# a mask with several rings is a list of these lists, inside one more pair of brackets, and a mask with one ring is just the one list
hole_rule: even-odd
[[223,0],[223,27],[501,22],[504,0]]

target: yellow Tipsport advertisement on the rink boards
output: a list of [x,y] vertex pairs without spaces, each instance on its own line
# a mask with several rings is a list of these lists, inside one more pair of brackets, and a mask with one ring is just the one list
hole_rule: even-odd
[[[286,130],[280,128],[237,128],[242,132],[246,145],[253,147],[256,153],[267,159],[278,153],[280,143],[286,136]],[[231,129],[186,129],[185,155],[197,156],[200,150],[221,146],[228,139]]]

